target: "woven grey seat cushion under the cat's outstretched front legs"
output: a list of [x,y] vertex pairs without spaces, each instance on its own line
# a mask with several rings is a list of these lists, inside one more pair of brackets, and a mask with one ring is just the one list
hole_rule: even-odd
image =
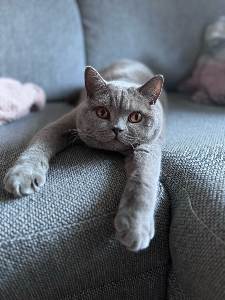
[[162,299],[169,257],[168,195],[159,183],[156,235],[148,249],[128,252],[113,225],[126,180],[122,155],[69,148],[52,159],[39,193],[14,199],[3,189],[6,169],[31,136],[68,109],[49,103],[43,112],[2,126],[0,298],[55,300],[86,293],[83,297],[98,299],[108,289],[112,299],[117,292],[124,299],[124,288],[132,291],[139,282],[144,290],[129,300],[138,295]]

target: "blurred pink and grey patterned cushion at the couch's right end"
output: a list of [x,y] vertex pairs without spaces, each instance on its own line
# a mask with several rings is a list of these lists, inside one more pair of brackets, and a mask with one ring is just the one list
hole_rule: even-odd
[[225,17],[207,26],[202,54],[178,91],[191,93],[195,102],[225,105]]

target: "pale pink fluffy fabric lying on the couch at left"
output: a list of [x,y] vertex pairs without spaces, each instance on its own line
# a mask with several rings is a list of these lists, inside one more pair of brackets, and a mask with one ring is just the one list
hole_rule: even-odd
[[0,78],[0,125],[42,109],[45,103],[45,92],[36,84]]

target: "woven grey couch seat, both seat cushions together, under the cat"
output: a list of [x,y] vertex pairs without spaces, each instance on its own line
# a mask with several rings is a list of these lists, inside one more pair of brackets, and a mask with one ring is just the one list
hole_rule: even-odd
[[2,127],[0,298],[223,299],[224,108],[169,95],[156,235],[137,253],[117,241],[113,226],[126,180],[122,155],[69,148],[52,159],[39,193],[14,199],[3,189],[33,134],[69,109],[49,103]]

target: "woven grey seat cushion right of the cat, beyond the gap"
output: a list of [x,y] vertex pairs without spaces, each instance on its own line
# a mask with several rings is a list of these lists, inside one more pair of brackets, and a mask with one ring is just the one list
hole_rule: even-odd
[[170,252],[190,299],[225,299],[225,108],[169,95],[162,179]]

